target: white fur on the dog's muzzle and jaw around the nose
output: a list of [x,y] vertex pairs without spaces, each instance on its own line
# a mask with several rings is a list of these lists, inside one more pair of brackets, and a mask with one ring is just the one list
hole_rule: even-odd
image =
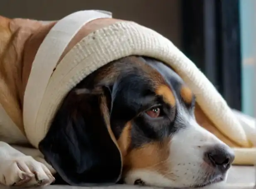
[[[220,145],[226,146],[216,136],[197,124],[194,116],[188,116],[185,108],[177,111],[180,119],[179,131],[174,133],[170,141],[169,171],[166,177],[152,170],[131,170],[125,175],[125,182],[133,184],[141,179],[146,185],[160,187],[193,187],[204,183],[206,177],[211,177],[214,169],[203,160],[207,148]],[[182,128],[185,126],[185,128]],[[173,178],[173,179],[170,179]]]

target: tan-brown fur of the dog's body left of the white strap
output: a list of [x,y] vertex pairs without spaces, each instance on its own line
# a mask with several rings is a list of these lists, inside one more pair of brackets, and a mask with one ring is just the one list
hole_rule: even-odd
[[40,45],[39,41],[31,44],[30,39],[47,26],[30,19],[0,17],[0,104],[23,133],[23,95]]

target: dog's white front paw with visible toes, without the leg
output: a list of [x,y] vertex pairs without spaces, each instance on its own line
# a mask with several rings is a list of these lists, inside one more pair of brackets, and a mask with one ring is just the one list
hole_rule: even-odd
[[0,182],[6,186],[40,187],[54,180],[49,169],[31,156],[0,162]]

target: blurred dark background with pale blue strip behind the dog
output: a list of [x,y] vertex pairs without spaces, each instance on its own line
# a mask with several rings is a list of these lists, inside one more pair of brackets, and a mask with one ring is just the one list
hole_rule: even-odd
[[255,115],[256,0],[0,2],[0,15],[11,18],[56,20],[85,9],[108,10],[158,31],[194,61],[231,108]]

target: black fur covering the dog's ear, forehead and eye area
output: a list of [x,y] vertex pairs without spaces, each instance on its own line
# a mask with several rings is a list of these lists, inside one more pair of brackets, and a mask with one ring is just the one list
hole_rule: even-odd
[[[150,74],[158,70],[173,91],[179,90],[182,80],[161,62],[152,58],[139,60],[140,63],[134,63],[130,58],[123,58],[103,66],[81,81],[64,99],[39,150],[68,184],[115,183],[121,174],[120,153],[99,109],[100,95],[77,95],[77,88],[93,90],[100,85],[98,87],[105,89],[110,125],[116,139],[132,120],[130,149],[162,141],[179,130],[175,126],[177,107],[171,107],[155,94],[155,82]],[[118,75],[108,74],[97,81],[96,76],[109,67],[115,68]],[[154,106],[160,107],[162,112],[157,119],[145,114]]]

